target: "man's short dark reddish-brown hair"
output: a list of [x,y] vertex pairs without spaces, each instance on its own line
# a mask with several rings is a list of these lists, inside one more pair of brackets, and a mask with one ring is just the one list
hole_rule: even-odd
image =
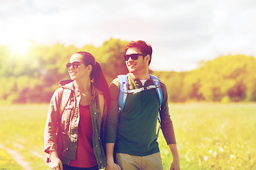
[[137,47],[139,51],[142,52],[142,54],[149,55],[150,59],[149,59],[149,64],[151,62],[151,55],[152,55],[152,47],[151,45],[146,44],[146,42],[144,42],[143,40],[138,40],[138,41],[131,41],[128,42],[127,45],[125,45],[124,47],[124,52],[127,52],[128,48],[131,47]]

